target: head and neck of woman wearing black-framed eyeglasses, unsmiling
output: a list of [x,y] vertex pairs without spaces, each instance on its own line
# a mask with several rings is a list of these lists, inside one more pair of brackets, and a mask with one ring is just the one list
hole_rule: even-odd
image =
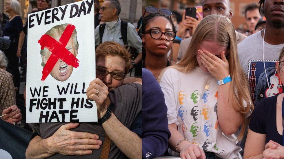
[[172,20],[160,13],[148,14],[142,21],[142,66],[158,80],[161,70],[170,66],[167,53],[172,48],[176,31]]

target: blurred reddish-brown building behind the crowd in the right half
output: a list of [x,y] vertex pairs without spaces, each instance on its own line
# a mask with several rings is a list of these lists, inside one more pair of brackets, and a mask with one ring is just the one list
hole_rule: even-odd
[[[230,6],[234,14],[232,23],[234,24],[235,29],[243,27],[243,24],[245,23],[245,5],[252,2],[258,3],[257,0],[230,0]],[[180,13],[182,13],[186,7],[196,7],[201,5],[202,0],[143,0],[143,8],[146,6],[154,6],[156,8],[176,10]]]

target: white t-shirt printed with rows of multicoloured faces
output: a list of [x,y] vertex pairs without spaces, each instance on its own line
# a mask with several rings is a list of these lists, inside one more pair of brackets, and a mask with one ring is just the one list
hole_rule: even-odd
[[[208,90],[205,89],[206,82],[198,67],[187,74],[173,68],[164,72],[160,85],[165,94],[169,124],[175,123],[185,139],[205,152],[214,152],[220,158],[242,158],[239,154],[241,147],[235,141],[240,130],[225,135],[219,127],[218,84],[210,73],[203,74],[209,85]],[[171,150],[170,154],[177,156]]]

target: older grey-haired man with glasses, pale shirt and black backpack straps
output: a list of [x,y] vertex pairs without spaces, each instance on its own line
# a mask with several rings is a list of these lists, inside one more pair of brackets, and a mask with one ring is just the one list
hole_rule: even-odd
[[[106,41],[118,42],[122,46],[128,45],[137,50],[138,55],[134,58],[130,69],[138,65],[142,60],[142,41],[136,32],[136,28],[127,22],[123,22],[118,17],[121,11],[120,3],[116,0],[106,0],[101,5],[101,24],[95,29],[96,46]],[[125,29],[127,28],[127,29]],[[125,33],[126,30],[126,33]],[[141,69],[135,67],[136,69]],[[140,75],[141,76],[141,75]]]

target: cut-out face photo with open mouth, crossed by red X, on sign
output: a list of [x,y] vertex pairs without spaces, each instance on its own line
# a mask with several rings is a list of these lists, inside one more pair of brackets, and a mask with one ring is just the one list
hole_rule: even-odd
[[[49,36],[42,37],[41,40],[39,40],[41,44],[41,66],[43,67],[42,81],[48,76],[46,71],[48,71],[54,79],[66,81],[72,74],[73,67],[77,68],[79,66],[77,63],[78,59],[76,59],[79,43],[77,41],[75,26],[67,23],[56,25],[44,35]],[[50,41],[50,39],[52,41]],[[49,44],[43,46],[44,40]]]

